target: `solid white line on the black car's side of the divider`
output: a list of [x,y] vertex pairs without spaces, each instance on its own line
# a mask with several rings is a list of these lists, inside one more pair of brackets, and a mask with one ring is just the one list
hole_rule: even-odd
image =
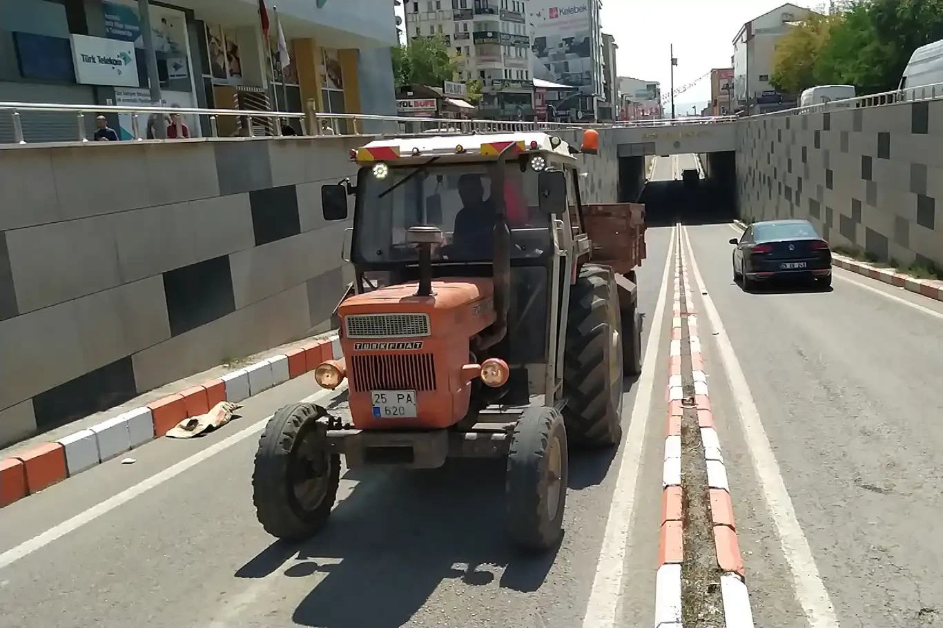
[[714,338],[717,340],[720,360],[724,371],[727,372],[727,380],[734,394],[740,425],[753,459],[753,469],[763,488],[769,515],[776,525],[783,554],[789,570],[792,571],[796,598],[802,605],[805,617],[812,628],[836,628],[838,620],[835,617],[835,608],[819,575],[819,568],[816,566],[809,542],[796,518],[796,510],[786,490],[786,484],[783,482],[779,463],[769,445],[766,430],[763,429],[763,423],[760,421],[760,413],[753,401],[753,394],[750,392],[743,369],[734,353],[734,346],[730,343],[730,338],[723,328],[723,322],[720,321],[720,314],[704,285],[685,227],[682,227],[682,237],[687,248],[688,266],[701,291],[704,313],[714,328]]

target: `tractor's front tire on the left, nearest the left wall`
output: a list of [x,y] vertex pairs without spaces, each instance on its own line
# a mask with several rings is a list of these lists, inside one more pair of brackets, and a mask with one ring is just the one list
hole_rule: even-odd
[[340,456],[327,447],[327,431],[317,423],[320,408],[286,405],[262,432],[252,474],[256,517],[273,537],[312,537],[327,523],[337,499]]

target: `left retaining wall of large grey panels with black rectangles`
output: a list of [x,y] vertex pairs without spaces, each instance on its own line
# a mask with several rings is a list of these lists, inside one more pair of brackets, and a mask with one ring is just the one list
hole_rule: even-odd
[[359,141],[0,150],[0,444],[326,331]]

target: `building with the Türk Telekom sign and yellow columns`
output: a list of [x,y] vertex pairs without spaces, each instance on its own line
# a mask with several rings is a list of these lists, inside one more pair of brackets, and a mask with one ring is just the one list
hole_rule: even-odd
[[[278,3],[290,52],[282,69],[271,62],[277,42],[271,3],[266,46],[257,0],[150,2],[161,104],[393,115],[392,2],[385,0],[383,11],[371,0],[319,4]],[[0,102],[150,105],[141,18],[138,0],[3,0]],[[192,136],[209,133],[208,119],[184,118]],[[130,114],[108,119],[121,140],[133,137]],[[156,137],[165,122],[152,116],[141,136]],[[78,139],[73,114],[25,112],[21,123],[28,142]],[[84,123],[91,138],[94,115]],[[235,132],[236,124],[220,118],[219,134]],[[0,142],[12,136],[10,117],[0,114]]]

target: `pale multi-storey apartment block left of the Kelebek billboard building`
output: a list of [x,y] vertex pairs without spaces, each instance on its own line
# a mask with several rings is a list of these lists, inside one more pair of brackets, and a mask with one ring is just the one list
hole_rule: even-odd
[[498,120],[534,116],[527,5],[531,0],[406,0],[409,40],[442,37],[459,81],[482,83],[479,114]]

